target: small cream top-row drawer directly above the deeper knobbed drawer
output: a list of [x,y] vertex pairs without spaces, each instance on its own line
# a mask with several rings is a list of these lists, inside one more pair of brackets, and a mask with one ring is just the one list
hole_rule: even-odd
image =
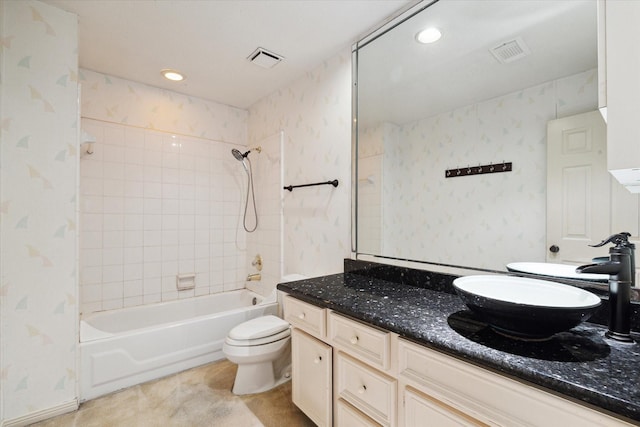
[[387,370],[390,365],[391,334],[355,320],[329,313],[328,338],[331,345]]

